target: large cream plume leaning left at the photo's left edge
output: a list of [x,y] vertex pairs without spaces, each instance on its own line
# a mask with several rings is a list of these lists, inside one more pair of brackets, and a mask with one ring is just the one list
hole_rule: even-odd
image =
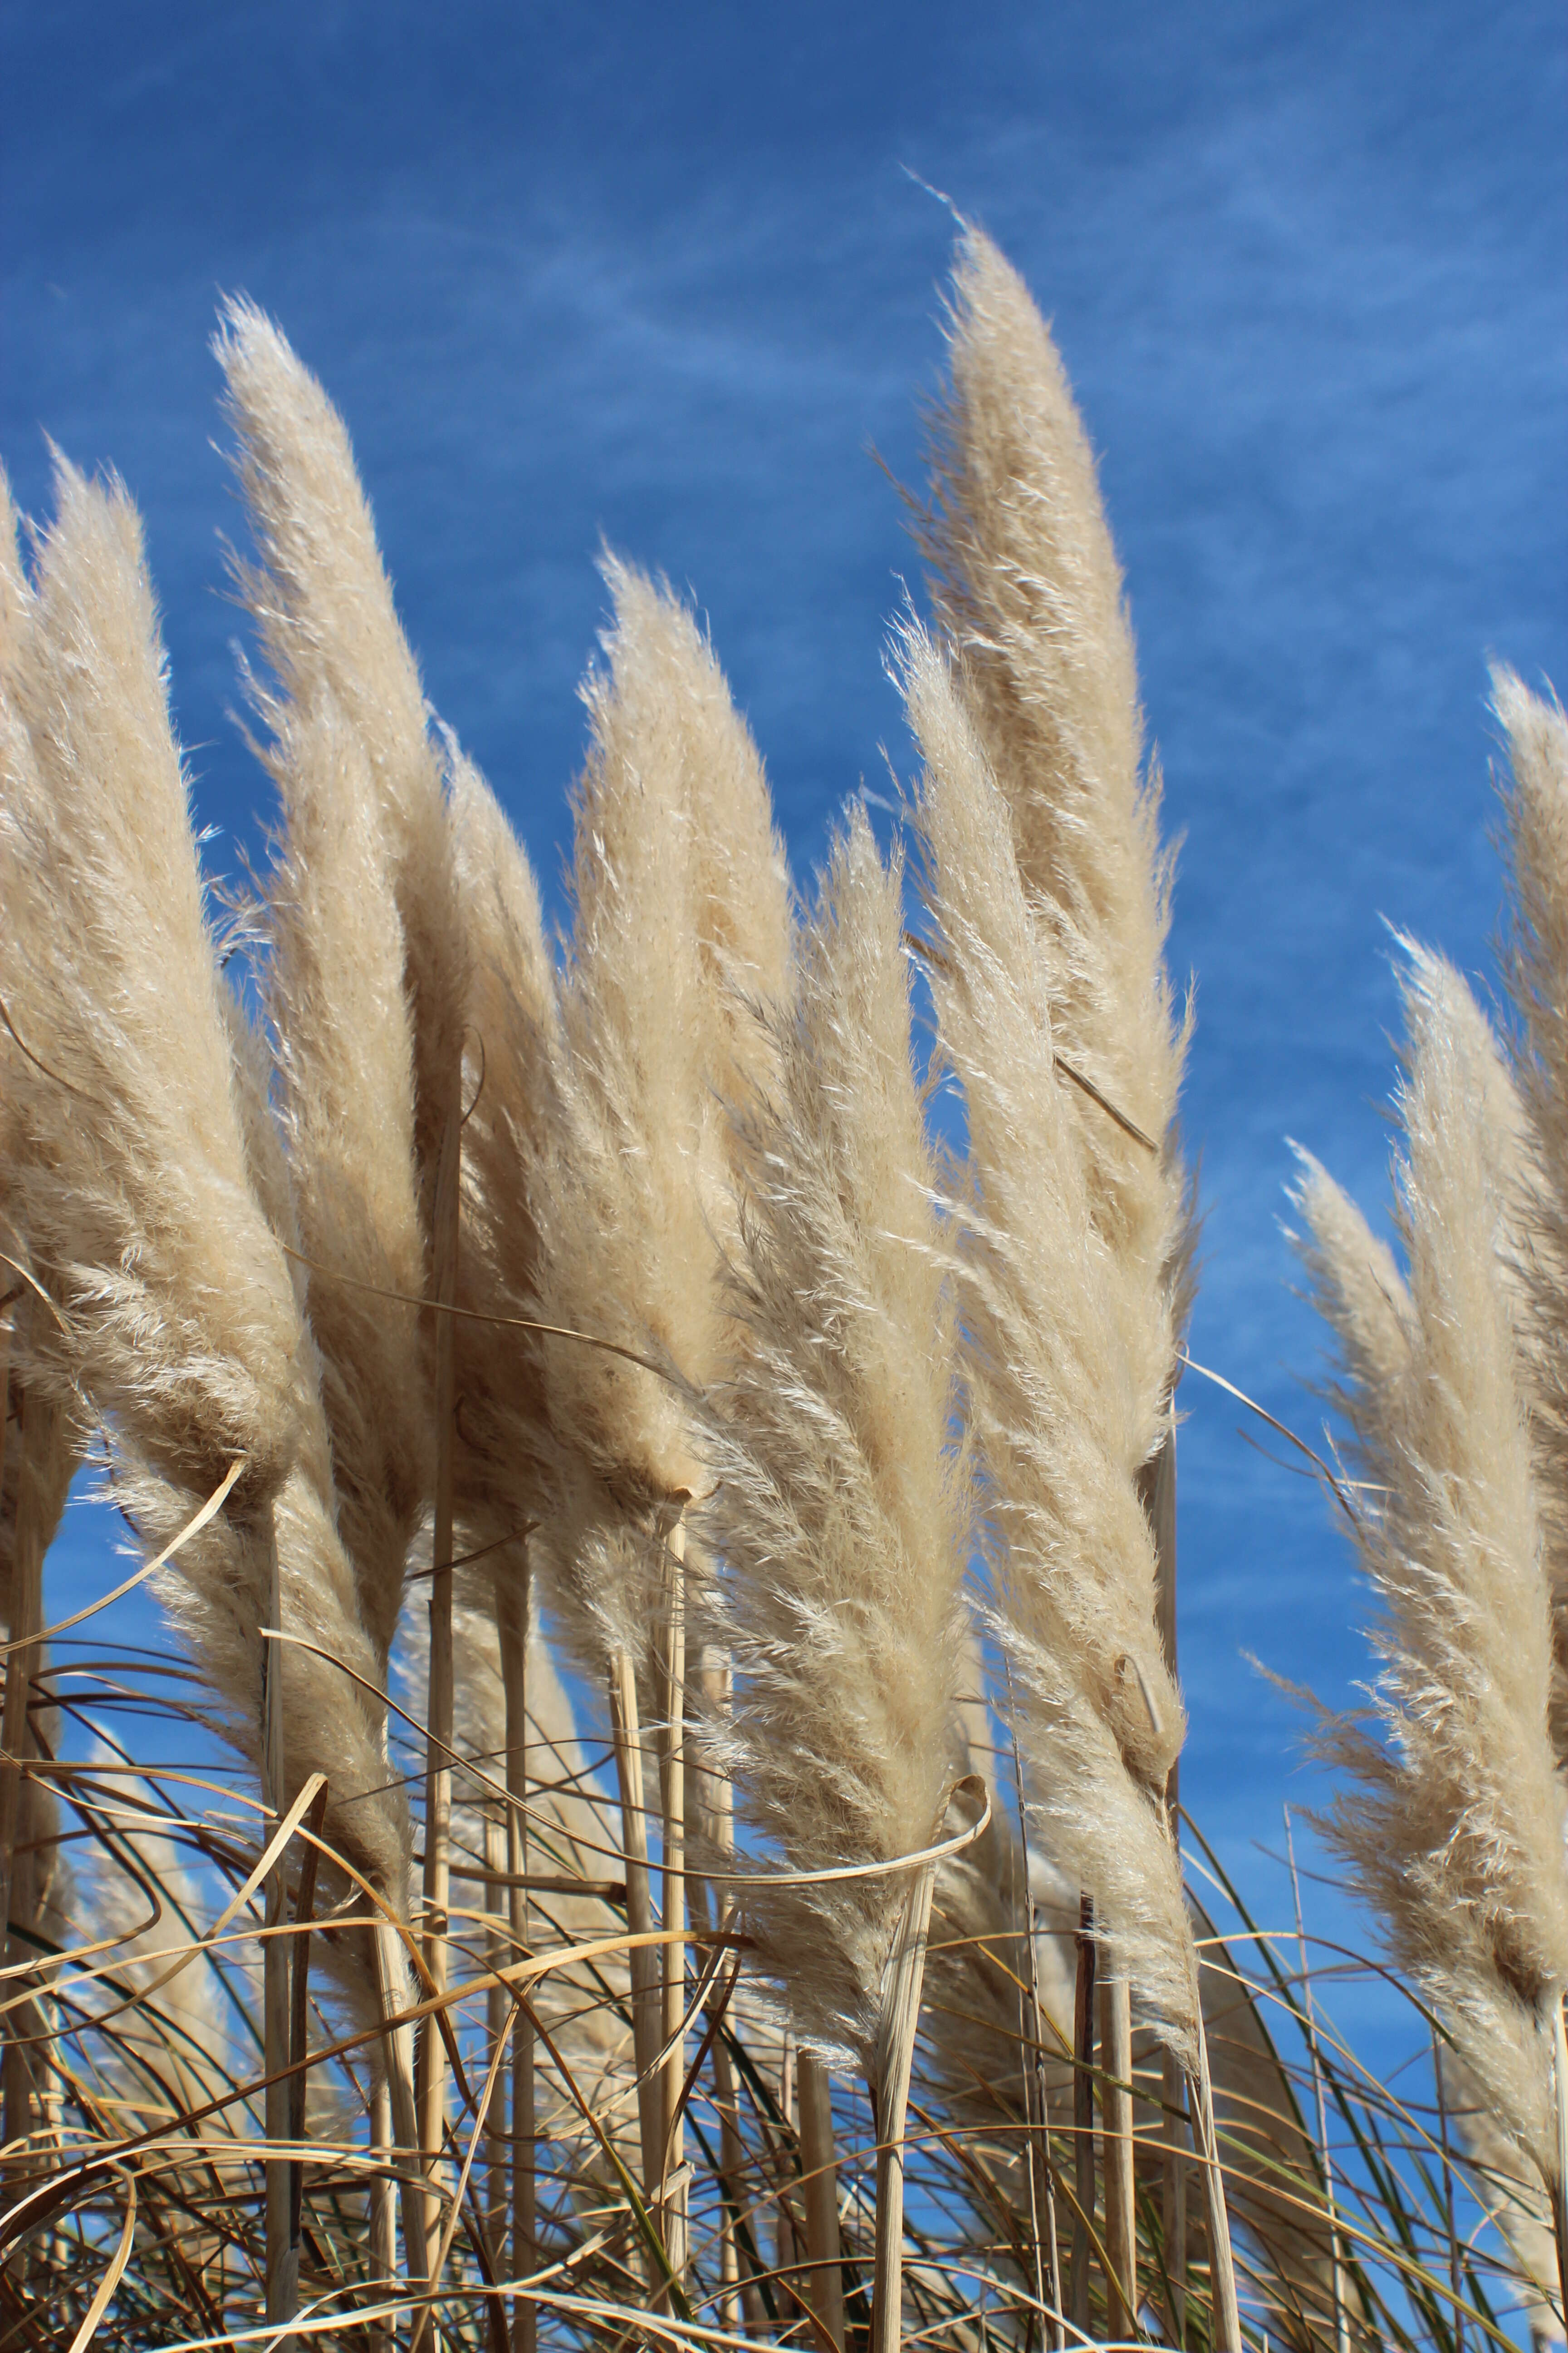
[[155,1551],[226,1480],[160,1591],[259,1762],[270,1532],[289,1633],[289,1791],[329,1777],[329,1835],[402,1899],[374,1678],[339,1546],[317,1365],[249,1184],[223,986],[136,515],[59,468],[24,659],[0,704],[7,1209],[56,1315],[26,1377],[113,1431],[110,1487]]

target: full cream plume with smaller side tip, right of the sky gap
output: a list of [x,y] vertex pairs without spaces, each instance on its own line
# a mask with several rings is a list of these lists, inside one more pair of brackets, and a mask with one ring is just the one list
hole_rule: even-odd
[[[1335,1718],[1319,1734],[1352,1781],[1324,1828],[1500,2122],[1554,2174],[1552,2005],[1568,1984],[1568,1875],[1509,1268],[1519,1111],[1460,974],[1406,948],[1396,1184],[1408,1308],[1394,1294],[1394,1325],[1371,1348],[1366,1247],[1321,1181],[1309,1174],[1302,1188],[1347,1374],[1366,1391],[1375,1353],[1392,1358],[1378,1407],[1356,1405],[1368,1468],[1356,1539],[1382,1602],[1371,1635],[1380,1673],[1371,1722]],[[1396,1332],[1408,1334],[1403,1362]]]

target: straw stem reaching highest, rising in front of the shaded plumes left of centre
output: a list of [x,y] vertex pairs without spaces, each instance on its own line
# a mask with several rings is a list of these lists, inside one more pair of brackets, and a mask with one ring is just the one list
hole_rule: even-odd
[[[435,1532],[430,1548],[430,1697],[425,1748],[425,1969],[430,1991],[447,1991],[447,1906],[451,1899],[451,1508],[456,1449],[456,1318],[440,1313],[456,1299],[458,1282],[458,1209],[461,1209],[463,1125],[447,1115],[435,1176]],[[442,2160],[447,2120],[447,2045],[430,2017],[418,2035],[416,2059],[418,2146],[430,2174],[425,2198],[425,2275],[440,2233],[442,2205],[435,2179]]]

